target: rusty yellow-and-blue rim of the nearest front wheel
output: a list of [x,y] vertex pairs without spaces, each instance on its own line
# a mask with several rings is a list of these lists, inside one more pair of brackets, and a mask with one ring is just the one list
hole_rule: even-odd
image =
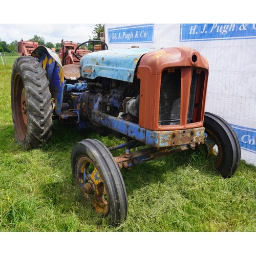
[[76,172],[79,188],[84,197],[88,201],[93,201],[97,213],[103,216],[108,215],[108,195],[95,163],[90,158],[83,156],[77,162]]

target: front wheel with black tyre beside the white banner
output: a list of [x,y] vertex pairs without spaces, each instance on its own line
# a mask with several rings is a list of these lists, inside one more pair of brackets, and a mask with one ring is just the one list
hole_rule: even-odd
[[205,112],[204,127],[207,135],[205,146],[215,159],[215,168],[224,178],[231,177],[241,159],[238,137],[232,127],[221,117]]

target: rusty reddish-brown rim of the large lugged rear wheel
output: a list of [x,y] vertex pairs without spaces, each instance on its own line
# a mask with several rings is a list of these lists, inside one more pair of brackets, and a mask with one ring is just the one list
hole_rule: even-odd
[[27,105],[26,105],[26,93],[23,86],[22,77],[19,74],[14,79],[14,100],[13,101],[13,115],[17,126],[17,134],[20,141],[24,141],[27,133]]

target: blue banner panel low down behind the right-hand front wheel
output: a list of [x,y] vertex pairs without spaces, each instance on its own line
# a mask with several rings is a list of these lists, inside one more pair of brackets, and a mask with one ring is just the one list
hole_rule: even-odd
[[230,124],[243,150],[256,154],[256,129]]

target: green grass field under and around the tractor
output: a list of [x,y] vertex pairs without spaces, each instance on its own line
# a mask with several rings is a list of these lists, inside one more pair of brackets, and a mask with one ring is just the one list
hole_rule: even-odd
[[47,145],[23,150],[12,126],[11,69],[0,65],[0,231],[256,230],[256,167],[242,161],[223,179],[202,152],[188,151],[121,170],[129,212],[121,225],[109,225],[76,188],[71,151],[84,138],[123,141],[54,122]]

